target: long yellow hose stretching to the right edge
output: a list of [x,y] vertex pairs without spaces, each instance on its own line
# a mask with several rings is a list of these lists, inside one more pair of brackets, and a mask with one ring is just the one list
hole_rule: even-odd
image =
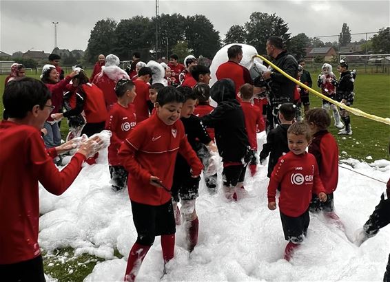
[[298,84],[300,87],[303,87],[305,89],[307,89],[308,91],[310,91],[312,94],[324,99],[324,100],[327,100],[328,102],[331,102],[332,104],[342,108],[342,109],[346,109],[347,111],[349,111],[350,113],[353,113],[354,115],[356,116],[362,116],[362,117],[365,117],[365,118],[369,118],[370,120],[375,120],[377,122],[383,122],[385,124],[390,124],[390,118],[381,118],[380,116],[374,116],[374,115],[371,115],[369,113],[365,113],[364,111],[360,110],[360,109],[356,109],[356,108],[351,108],[351,107],[348,107],[347,105],[344,105],[338,101],[335,101],[335,100],[332,100],[331,98],[323,95],[323,94],[320,94],[320,92],[314,90],[314,89],[311,89],[310,87],[308,87],[307,85],[301,83],[299,80],[296,80],[296,78],[294,77],[291,77],[289,76],[288,74],[286,74],[285,72],[283,72],[282,69],[280,69],[279,67],[276,67],[276,65],[274,65],[273,63],[271,63],[270,61],[267,60],[267,58],[264,58],[263,56],[260,56],[260,55],[255,55],[255,57],[258,57],[258,58],[261,58],[263,61],[267,62],[269,65],[271,65],[272,67],[274,67],[274,69],[276,69],[278,72],[280,72],[280,74],[283,74],[283,76],[289,78],[289,80],[292,80],[294,81],[294,83]]

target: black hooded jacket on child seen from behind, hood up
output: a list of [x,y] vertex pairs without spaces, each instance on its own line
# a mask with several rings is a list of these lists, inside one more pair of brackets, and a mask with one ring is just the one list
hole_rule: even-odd
[[243,109],[236,100],[234,82],[218,80],[210,89],[210,96],[218,106],[201,120],[215,129],[216,145],[223,162],[243,162],[249,147]]

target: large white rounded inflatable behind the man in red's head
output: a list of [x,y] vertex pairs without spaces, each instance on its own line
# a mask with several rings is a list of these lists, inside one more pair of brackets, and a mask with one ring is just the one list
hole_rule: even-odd
[[232,43],[226,46],[223,46],[218,52],[216,52],[212,65],[210,65],[210,87],[216,82],[216,70],[220,65],[228,61],[227,58],[227,49],[232,45],[240,45],[243,47],[243,59],[240,62],[240,65],[249,69],[252,79],[257,78],[262,72],[267,70],[267,67],[263,65],[263,61],[260,58],[254,58],[254,55],[257,55],[257,50],[255,47],[247,44],[241,43]]

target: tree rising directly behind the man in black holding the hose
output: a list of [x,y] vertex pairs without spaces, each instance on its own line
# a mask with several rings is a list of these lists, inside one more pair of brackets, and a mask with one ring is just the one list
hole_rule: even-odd
[[290,39],[288,24],[276,14],[253,12],[245,23],[247,44],[256,48],[258,54],[266,54],[265,45],[271,36],[280,36],[284,43]]

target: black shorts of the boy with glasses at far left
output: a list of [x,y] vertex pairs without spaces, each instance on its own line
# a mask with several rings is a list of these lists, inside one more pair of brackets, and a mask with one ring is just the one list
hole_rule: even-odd
[[42,256],[19,263],[0,264],[0,280],[10,282],[45,282]]

